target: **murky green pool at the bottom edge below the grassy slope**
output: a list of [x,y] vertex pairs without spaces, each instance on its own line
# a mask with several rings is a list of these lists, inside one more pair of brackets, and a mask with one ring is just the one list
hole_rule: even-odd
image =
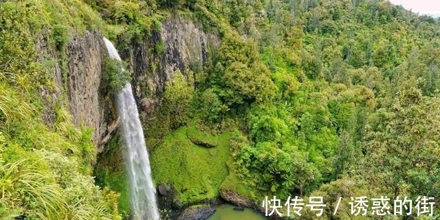
[[255,212],[249,208],[245,208],[243,211],[234,210],[236,206],[230,204],[221,205],[216,208],[214,214],[209,217],[208,220],[265,220],[262,214]]

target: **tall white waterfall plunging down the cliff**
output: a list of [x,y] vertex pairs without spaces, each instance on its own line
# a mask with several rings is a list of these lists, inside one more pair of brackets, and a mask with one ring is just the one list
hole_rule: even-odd
[[[110,58],[120,61],[121,58],[113,43],[105,38],[104,43]],[[115,96],[115,101],[126,144],[124,157],[131,188],[133,219],[157,220],[159,219],[159,212],[156,204],[155,186],[151,178],[144,131],[142,130],[130,83],[127,83],[122,91]]]

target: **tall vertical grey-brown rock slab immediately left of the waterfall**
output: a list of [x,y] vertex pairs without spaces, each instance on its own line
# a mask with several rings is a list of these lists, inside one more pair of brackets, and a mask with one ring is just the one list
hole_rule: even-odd
[[110,100],[100,91],[104,71],[104,49],[102,36],[87,32],[84,36],[74,36],[67,45],[67,96],[74,123],[94,128],[93,139],[96,145],[109,127]]

